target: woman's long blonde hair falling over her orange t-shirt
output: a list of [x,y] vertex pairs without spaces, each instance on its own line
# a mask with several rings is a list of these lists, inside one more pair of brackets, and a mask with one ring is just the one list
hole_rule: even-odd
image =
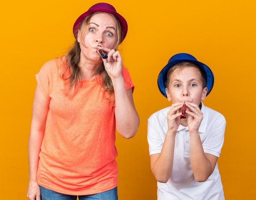
[[[81,31],[82,37],[88,31],[87,29],[88,22],[90,21],[93,15],[96,15],[98,13],[102,13],[102,12],[92,13],[91,15],[88,15],[81,22],[79,26],[79,31]],[[121,40],[121,25],[114,15],[112,15],[111,13],[107,13],[107,14],[113,17],[117,26],[117,45],[115,47],[115,50],[117,50],[117,47],[119,46],[119,43]],[[81,45],[84,45],[84,44],[81,44]],[[66,81],[66,87],[65,87],[64,93],[67,97],[70,97],[70,98],[74,97],[76,92],[78,92],[80,87],[79,80],[82,79],[81,68],[79,67],[80,53],[81,53],[80,44],[76,38],[74,45],[66,55],[66,60],[63,62],[62,66],[59,69],[59,76],[61,77],[61,79]],[[103,62],[99,70],[99,75],[102,76],[102,81],[100,81],[101,86],[104,88],[106,92],[108,92],[108,95],[106,95],[106,97],[110,97],[110,101],[112,101],[113,99],[115,99],[114,88],[112,85],[112,81],[105,70]]]

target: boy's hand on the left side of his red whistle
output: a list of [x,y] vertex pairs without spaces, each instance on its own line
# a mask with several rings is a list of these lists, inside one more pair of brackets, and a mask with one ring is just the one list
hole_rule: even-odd
[[181,123],[180,111],[183,104],[183,102],[172,104],[170,110],[167,113],[168,131],[172,134],[176,134]]

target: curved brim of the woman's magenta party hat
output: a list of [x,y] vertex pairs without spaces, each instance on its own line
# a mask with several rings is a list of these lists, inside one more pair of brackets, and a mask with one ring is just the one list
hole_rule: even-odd
[[86,11],[85,13],[83,13],[82,15],[80,15],[79,18],[77,18],[76,22],[74,23],[73,26],[73,34],[75,36],[75,38],[77,38],[77,33],[78,33],[78,29],[79,26],[81,24],[81,22],[84,20],[84,18],[86,18],[88,15],[92,14],[92,13],[96,13],[96,12],[106,12],[106,13],[111,13],[113,14],[117,20],[119,21],[120,25],[121,25],[121,40],[120,43],[123,42],[124,38],[126,37],[127,31],[128,31],[128,24],[125,20],[125,18],[120,15],[119,13],[112,11],[110,9],[106,9],[106,8],[95,8],[95,9],[90,9],[89,11]]

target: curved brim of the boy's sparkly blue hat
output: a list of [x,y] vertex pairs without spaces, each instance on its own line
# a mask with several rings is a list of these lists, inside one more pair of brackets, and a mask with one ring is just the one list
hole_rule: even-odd
[[206,83],[207,83],[206,84],[207,95],[209,95],[209,93],[211,92],[211,90],[213,88],[213,84],[214,84],[213,72],[211,71],[211,69],[207,65],[203,64],[202,62],[195,61],[195,60],[189,60],[189,59],[173,60],[173,61],[169,62],[161,70],[161,72],[159,73],[158,78],[157,78],[157,85],[158,85],[158,88],[159,88],[160,92],[162,93],[162,95],[164,95],[164,97],[167,98],[166,91],[165,91],[165,88],[166,88],[165,82],[166,82],[166,79],[167,79],[168,70],[172,66],[174,66],[175,64],[178,64],[178,63],[181,63],[181,62],[191,62],[193,64],[196,64],[198,67],[200,67],[204,71],[204,74],[206,76]]

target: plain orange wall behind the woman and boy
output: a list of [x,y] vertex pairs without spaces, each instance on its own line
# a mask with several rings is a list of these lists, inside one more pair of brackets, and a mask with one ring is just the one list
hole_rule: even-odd
[[[34,75],[72,44],[74,21],[96,2],[1,3],[0,199],[27,199],[27,139],[36,86]],[[256,111],[255,1],[108,2],[129,25],[121,53],[135,84],[134,100],[141,119],[134,138],[117,136],[119,199],[156,199],[146,121],[153,112],[170,105],[157,88],[157,75],[171,55],[181,52],[191,53],[209,65],[215,75],[215,85],[204,103],[227,120],[218,160],[225,197],[253,199],[256,134],[247,121],[254,121]]]

